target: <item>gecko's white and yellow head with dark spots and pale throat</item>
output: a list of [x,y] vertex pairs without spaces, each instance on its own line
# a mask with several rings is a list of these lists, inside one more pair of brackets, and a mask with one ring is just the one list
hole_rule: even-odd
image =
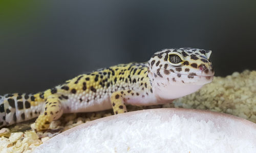
[[148,61],[148,77],[153,91],[176,99],[196,92],[214,78],[209,60],[211,51],[193,48],[164,49]]

